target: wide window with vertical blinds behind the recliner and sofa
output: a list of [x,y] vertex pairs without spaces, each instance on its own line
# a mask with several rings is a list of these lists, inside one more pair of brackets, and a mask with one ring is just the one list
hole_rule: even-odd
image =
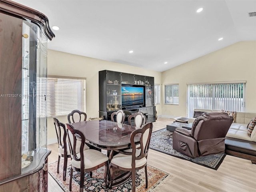
[[194,109],[244,111],[245,82],[188,84],[188,114]]

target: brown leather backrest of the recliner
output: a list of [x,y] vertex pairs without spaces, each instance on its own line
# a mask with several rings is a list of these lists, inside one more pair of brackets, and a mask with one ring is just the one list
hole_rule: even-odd
[[204,112],[195,119],[191,136],[196,140],[225,138],[233,119],[225,112]]

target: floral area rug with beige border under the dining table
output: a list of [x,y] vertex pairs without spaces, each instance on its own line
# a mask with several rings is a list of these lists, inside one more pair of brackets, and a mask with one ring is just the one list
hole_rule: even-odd
[[[60,161],[60,171],[57,173],[57,161],[49,164],[48,172],[60,185],[60,187],[65,191],[69,192],[69,180],[70,180],[70,158],[68,158],[68,169],[66,175],[66,181],[63,181],[63,159]],[[145,188],[145,172],[144,168],[136,171],[136,192],[154,192],[159,190],[167,180],[173,176],[154,168],[150,165],[147,165],[148,170],[148,189]],[[105,167],[98,168],[92,172],[92,177],[85,174],[84,179],[84,192],[131,192],[132,191],[132,180],[129,179],[124,184],[117,186],[115,188],[106,189],[104,181],[104,171]],[[73,181],[72,181],[72,192],[79,192],[80,185],[80,172],[73,172]]]

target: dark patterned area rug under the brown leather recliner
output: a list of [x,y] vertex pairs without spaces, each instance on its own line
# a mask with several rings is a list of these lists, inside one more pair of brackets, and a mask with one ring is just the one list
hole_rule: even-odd
[[224,160],[226,154],[212,154],[191,158],[172,148],[172,134],[173,132],[166,130],[166,128],[155,131],[152,133],[150,140],[150,149],[191,161],[193,163],[217,170]]

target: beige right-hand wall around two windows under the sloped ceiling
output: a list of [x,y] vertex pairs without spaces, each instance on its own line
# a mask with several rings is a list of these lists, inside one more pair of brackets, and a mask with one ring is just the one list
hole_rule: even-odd
[[[186,57],[186,53],[184,53]],[[179,84],[179,105],[162,104],[162,115],[187,116],[186,83],[246,80],[245,111],[256,112],[256,41],[238,42],[162,72],[164,84]]]

